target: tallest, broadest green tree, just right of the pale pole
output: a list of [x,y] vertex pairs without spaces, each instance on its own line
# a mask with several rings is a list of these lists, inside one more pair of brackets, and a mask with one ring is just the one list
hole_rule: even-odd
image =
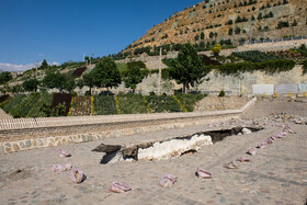
[[208,70],[203,66],[197,50],[191,44],[185,44],[178,54],[178,58],[172,61],[170,76],[178,82],[183,84],[183,92],[195,83],[200,83],[202,78],[206,76]]

